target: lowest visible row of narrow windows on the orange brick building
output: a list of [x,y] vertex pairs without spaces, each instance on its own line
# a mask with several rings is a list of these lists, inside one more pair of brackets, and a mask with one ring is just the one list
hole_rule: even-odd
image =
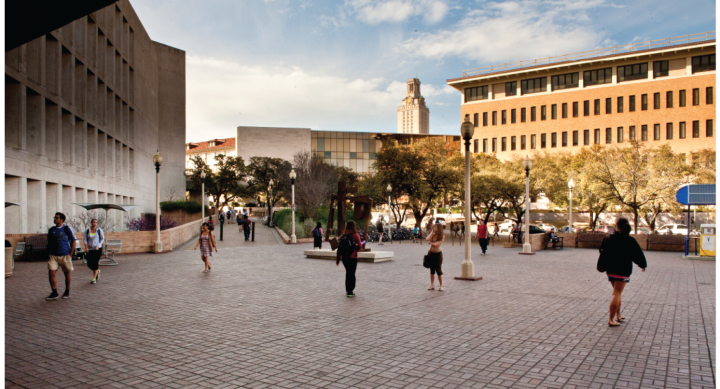
[[[696,120],[692,122],[692,137],[693,138],[700,138],[700,121]],[[673,140],[675,139],[675,124],[674,123],[667,123],[664,127],[664,134],[666,140]],[[562,133],[553,132],[549,134],[540,134],[539,139],[540,143],[538,144],[538,135],[530,135],[530,149],[536,150],[538,148],[540,149],[547,149],[547,148],[558,148],[558,147],[570,147],[571,141],[573,147],[581,146],[580,142],[582,141],[582,146],[590,146],[593,144],[600,145],[600,144],[613,144],[613,143],[624,143],[626,140],[626,133],[624,127],[618,127],[617,129],[613,128],[607,128],[605,129],[605,132],[603,134],[603,131],[599,128],[595,129],[594,131],[591,130],[584,130],[582,132],[582,139],[581,139],[581,133],[580,131],[573,131],[572,134],[570,132],[565,131]],[[604,135],[604,136],[603,136]],[[639,138],[638,138],[639,135]],[[572,140],[570,139],[570,136],[572,136]],[[705,136],[707,138],[713,138],[715,136],[715,130],[714,130],[714,122],[713,120],[707,120],[705,122]],[[650,141],[650,138],[652,137],[652,140],[659,141],[663,139],[663,126],[661,124],[655,124],[653,126],[652,134],[650,133],[650,128],[647,125],[640,126],[640,133],[637,132],[636,126],[630,126],[628,128],[627,133],[627,139],[629,140],[636,140],[636,141],[642,141],[642,142],[648,142]],[[518,145],[518,138],[520,140],[520,144]],[[677,128],[677,138],[678,139],[687,139],[688,138],[688,132],[687,132],[687,123],[686,122],[680,122]],[[483,139],[482,143],[482,152],[483,153],[497,153],[498,151],[508,151],[508,139],[510,140],[509,149],[510,151],[516,151],[518,150],[518,146],[520,150],[527,150],[528,148],[528,136],[522,135],[522,136],[512,136],[512,137],[502,137],[500,138],[500,145],[498,149],[498,138],[492,138],[492,139]],[[474,152],[477,154],[480,152],[480,140],[476,139],[473,145]]]

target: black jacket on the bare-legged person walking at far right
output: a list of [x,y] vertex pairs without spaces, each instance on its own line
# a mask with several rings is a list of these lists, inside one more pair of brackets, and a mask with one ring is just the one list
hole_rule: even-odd
[[640,245],[630,235],[616,232],[608,235],[600,246],[600,264],[608,275],[630,277],[633,263],[647,268],[647,260]]

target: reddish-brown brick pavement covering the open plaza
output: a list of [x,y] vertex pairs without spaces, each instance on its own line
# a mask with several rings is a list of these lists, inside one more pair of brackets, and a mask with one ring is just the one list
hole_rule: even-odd
[[[606,326],[589,250],[491,249],[478,283],[429,292],[427,246],[360,264],[358,298],[310,245],[122,257],[46,302],[45,265],[5,280],[5,388],[714,388],[717,263],[649,253]],[[446,247],[446,277],[463,248]],[[62,277],[60,285],[62,286]]]

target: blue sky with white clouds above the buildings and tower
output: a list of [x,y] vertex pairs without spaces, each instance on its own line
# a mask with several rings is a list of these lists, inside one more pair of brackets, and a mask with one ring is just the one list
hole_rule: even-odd
[[238,126],[396,132],[417,77],[432,134],[481,66],[717,30],[716,0],[131,0],[187,53],[187,141]]

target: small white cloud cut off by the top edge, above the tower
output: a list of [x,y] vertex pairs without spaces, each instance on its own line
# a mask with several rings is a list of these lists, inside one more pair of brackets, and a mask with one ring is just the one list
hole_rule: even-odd
[[372,25],[404,22],[414,16],[435,24],[449,10],[445,0],[346,0],[345,6],[359,20]]

